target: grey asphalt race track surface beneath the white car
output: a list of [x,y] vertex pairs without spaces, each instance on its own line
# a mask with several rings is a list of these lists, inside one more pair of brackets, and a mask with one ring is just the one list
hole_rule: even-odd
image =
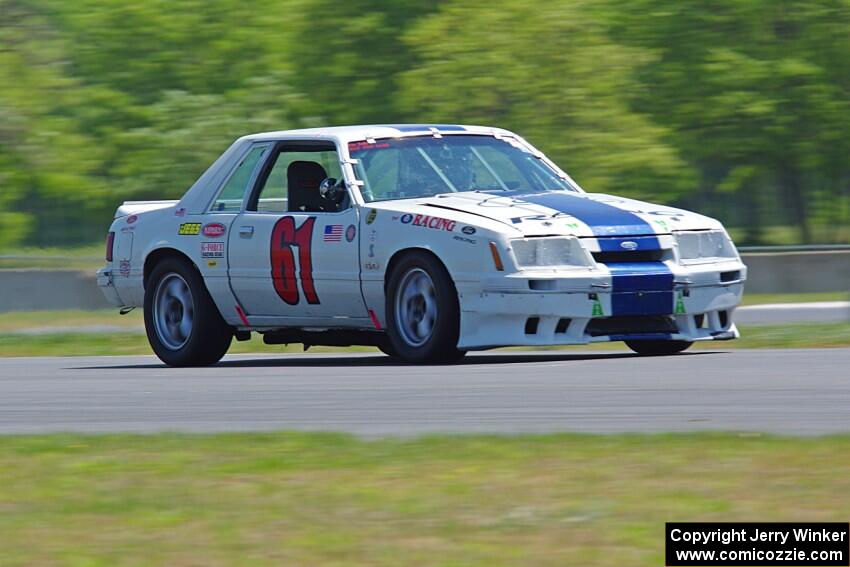
[[0,360],[0,433],[280,429],[423,433],[850,432],[850,349]]

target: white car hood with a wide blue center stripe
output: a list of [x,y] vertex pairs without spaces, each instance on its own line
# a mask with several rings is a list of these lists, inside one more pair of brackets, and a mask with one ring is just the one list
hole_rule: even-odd
[[[470,191],[393,203],[399,206],[392,208],[401,212],[444,216],[469,224],[475,221],[466,215],[490,219],[524,236],[639,236],[722,228],[714,219],[681,209],[612,195],[568,191]],[[452,213],[465,215],[458,218]]]

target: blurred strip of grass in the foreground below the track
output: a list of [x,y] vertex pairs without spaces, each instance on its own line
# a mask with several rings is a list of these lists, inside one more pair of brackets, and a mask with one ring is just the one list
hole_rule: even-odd
[[666,521],[847,521],[850,438],[35,436],[3,565],[663,565]]

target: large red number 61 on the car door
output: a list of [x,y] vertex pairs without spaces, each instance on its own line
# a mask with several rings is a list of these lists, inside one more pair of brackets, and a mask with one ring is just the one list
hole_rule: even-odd
[[[271,240],[272,282],[277,295],[289,305],[298,305],[298,278],[304,298],[310,305],[318,305],[319,296],[313,283],[313,226],[316,217],[308,217],[301,226],[295,227],[295,217],[282,217],[274,225]],[[298,248],[298,267],[295,251]]]

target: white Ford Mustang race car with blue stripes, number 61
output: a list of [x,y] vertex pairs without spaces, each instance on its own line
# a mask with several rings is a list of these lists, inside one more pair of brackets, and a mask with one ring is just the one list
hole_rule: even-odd
[[716,220],[585,193],[512,132],[386,125],[237,140],[179,201],[127,202],[98,285],[166,364],[233,338],[445,362],[509,345],[673,354],[738,336]]

